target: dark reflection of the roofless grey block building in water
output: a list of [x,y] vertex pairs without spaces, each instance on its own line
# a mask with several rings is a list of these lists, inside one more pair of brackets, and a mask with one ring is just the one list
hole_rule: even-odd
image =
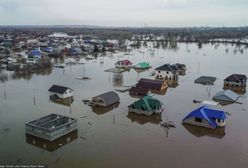
[[74,130],[54,141],[48,141],[33,135],[26,134],[26,143],[53,152],[58,148],[76,140],[78,138],[78,130]]

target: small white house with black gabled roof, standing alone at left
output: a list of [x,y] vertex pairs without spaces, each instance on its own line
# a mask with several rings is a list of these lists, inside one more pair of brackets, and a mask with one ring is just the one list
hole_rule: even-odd
[[50,92],[50,98],[51,96],[56,96],[58,98],[65,99],[73,96],[73,90],[64,86],[53,85],[48,91]]

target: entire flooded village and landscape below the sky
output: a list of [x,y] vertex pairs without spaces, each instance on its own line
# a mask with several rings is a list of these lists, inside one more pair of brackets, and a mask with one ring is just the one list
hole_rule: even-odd
[[0,28],[0,163],[248,165],[248,29]]

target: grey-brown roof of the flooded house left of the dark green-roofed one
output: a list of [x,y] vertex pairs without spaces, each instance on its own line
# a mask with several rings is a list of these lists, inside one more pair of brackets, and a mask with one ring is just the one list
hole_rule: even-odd
[[120,101],[119,95],[113,91],[106,92],[101,95],[95,96],[92,99],[99,99],[99,98],[103,100],[106,106],[118,103]]

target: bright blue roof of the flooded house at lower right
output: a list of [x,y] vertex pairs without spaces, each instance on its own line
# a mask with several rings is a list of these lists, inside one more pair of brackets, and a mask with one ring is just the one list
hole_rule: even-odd
[[224,111],[211,109],[207,106],[202,106],[192,111],[183,119],[183,121],[191,117],[205,119],[213,128],[217,126],[217,123],[213,120],[213,118],[221,119],[221,120],[226,119],[226,115]]

